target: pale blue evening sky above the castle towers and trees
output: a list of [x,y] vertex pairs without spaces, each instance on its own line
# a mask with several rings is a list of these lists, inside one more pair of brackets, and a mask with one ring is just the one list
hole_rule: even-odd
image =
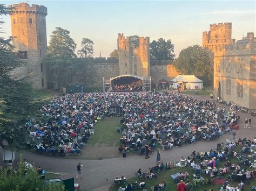
[[[9,5],[19,1],[1,0]],[[150,41],[171,39],[176,57],[181,49],[202,43],[202,32],[213,23],[232,23],[232,38],[236,40],[255,33],[255,1],[76,1],[29,0],[48,8],[46,27],[50,34],[59,26],[70,31],[80,47],[82,38],[95,43],[95,56],[109,56],[117,48],[117,33],[124,36],[147,36]],[[3,17],[5,34],[11,36],[10,17]]]

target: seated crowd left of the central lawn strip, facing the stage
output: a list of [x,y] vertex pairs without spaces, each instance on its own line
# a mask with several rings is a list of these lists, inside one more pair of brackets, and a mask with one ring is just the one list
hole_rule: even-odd
[[107,107],[100,93],[56,96],[41,108],[46,121],[26,123],[33,138],[29,146],[49,155],[80,154],[93,126],[107,115]]

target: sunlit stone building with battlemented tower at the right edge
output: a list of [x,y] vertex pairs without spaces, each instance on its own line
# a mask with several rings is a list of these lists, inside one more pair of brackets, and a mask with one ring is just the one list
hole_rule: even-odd
[[[230,27],[224,27],[225,24],[210,25],[208,34],[218,35],[211,36],[209,43],[205,38],[206,32],[203,32],[203,46],[214,53],[214,95],[221,100],[256,109],[256,38],[253,33],[247,33],[247,37],[235,42],[231,39],[231,23],[226,24]],[[228,39],[219,41],[219,37]]]

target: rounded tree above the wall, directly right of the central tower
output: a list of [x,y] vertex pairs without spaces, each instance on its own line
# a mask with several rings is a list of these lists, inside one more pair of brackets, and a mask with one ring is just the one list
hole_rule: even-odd
[[150,43],[150,59],[151,60],[173,60],[174,59],[174,45],[171,40],[165,41],[159,38],[158,41],[153,40]]

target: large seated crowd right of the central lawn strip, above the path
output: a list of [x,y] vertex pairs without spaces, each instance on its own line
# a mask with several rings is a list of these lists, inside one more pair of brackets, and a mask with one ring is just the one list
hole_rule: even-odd
[[123,94],[121,104],[124,118],[117,128],[122,133],[120,153],[136,150],[144,154],[147,145],[151,149],[161,145],[166,150],[213,140],[232,131],[239,119],[234,110],[225,114],[213,102],[175,93]]

